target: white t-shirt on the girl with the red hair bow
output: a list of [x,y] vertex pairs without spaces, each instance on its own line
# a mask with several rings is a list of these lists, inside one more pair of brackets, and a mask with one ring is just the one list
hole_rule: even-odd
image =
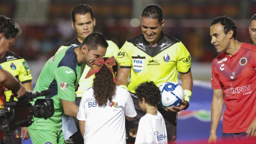
[[85,91],[77,113],[77,119],[85,121],[84,144],[126,144],[125,115],[137,115],[130,93],[116,86],[112,101],[101,107],[93,95],[93,89]]

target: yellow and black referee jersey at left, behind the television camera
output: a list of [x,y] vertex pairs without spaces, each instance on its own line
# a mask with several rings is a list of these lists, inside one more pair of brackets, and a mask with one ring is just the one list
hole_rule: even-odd
[[[32,82],[32,75],[27,62],[18,55],[10,52],[0,59],[0,65],[4,70],[18,78],[22,84]],[[11,94],[10,90],[5,91],[6,101],[9,101]],[[14,97],[14,100],[17,98]]]

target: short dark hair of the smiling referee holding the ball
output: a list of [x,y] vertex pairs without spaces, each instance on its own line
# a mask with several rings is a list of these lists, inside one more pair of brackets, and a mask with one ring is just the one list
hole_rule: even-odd
[[147,5],[141,14],[141,18],[149,18],[149,19],[158,19],[158,22],[161,24],[163,21],[163,10],[159,5],[150,4]]

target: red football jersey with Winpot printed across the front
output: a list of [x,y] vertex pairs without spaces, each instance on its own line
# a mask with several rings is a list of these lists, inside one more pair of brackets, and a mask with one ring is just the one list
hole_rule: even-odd
[[255,66],[256,47],[247,43],[233,56],[222,52],[212,62],[212,88],[225,95],[223,133],[246,132],[256,117]]

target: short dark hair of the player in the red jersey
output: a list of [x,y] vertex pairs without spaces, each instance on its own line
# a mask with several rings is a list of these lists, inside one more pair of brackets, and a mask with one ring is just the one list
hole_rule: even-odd
[[227,17],[227,16],[218,16],[214,19],[212,19],[211,21],[211,26],[215,25],[215,24],[218,24],[220,23],[222,26],[224,26],[224,34],[226,35],[230,30],[233,30],[233,38],[236,40],[236,36],[237,36],[237,26],[236,26],[236,23],[230,18],[230,17]]

